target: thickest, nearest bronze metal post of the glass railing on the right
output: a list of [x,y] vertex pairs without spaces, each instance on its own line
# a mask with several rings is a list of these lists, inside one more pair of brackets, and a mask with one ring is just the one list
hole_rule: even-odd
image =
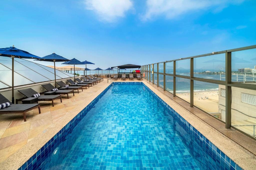
[[231,52],[226,52],[226,128],[231,127]]

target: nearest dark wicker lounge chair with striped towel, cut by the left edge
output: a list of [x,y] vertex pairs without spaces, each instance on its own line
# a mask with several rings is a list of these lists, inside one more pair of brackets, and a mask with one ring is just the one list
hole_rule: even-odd
[[41,113],[40,110],[40,104],[13,104],[8,99],[6,99],[2,94],[0,94],[0,103],[6,103],[9,102],[10,106],[0,109],[0,114],[4,113],[21,113],[23,114],[24,122],[27,121],[26,119],[26,112],[38,108],[39,113]]

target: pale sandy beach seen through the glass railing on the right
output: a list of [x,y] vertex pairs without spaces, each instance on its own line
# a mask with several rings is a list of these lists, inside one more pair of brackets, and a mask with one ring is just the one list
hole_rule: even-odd
[[[189,93],[176,93],[176,95],[186,101],[190,100]],[[218,89],[194,92],[194,105],[206,112],[218,112],[218,101]]]

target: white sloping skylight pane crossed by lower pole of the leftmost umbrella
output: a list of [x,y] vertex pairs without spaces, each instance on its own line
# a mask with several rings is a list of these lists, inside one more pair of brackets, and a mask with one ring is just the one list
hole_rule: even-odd
[[[12,70],[1,71],[0,80],[5,82],[9,86],[12,86]],[[14,72],[14,86],[20,86],[24,84],[32,84],[30,80]]]

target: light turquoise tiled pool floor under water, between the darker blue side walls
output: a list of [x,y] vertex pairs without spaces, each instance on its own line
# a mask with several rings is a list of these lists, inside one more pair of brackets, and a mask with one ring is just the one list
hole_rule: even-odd
[[199,169],[167,110],[141,84],[112,86],[63,159],[63,169]]

